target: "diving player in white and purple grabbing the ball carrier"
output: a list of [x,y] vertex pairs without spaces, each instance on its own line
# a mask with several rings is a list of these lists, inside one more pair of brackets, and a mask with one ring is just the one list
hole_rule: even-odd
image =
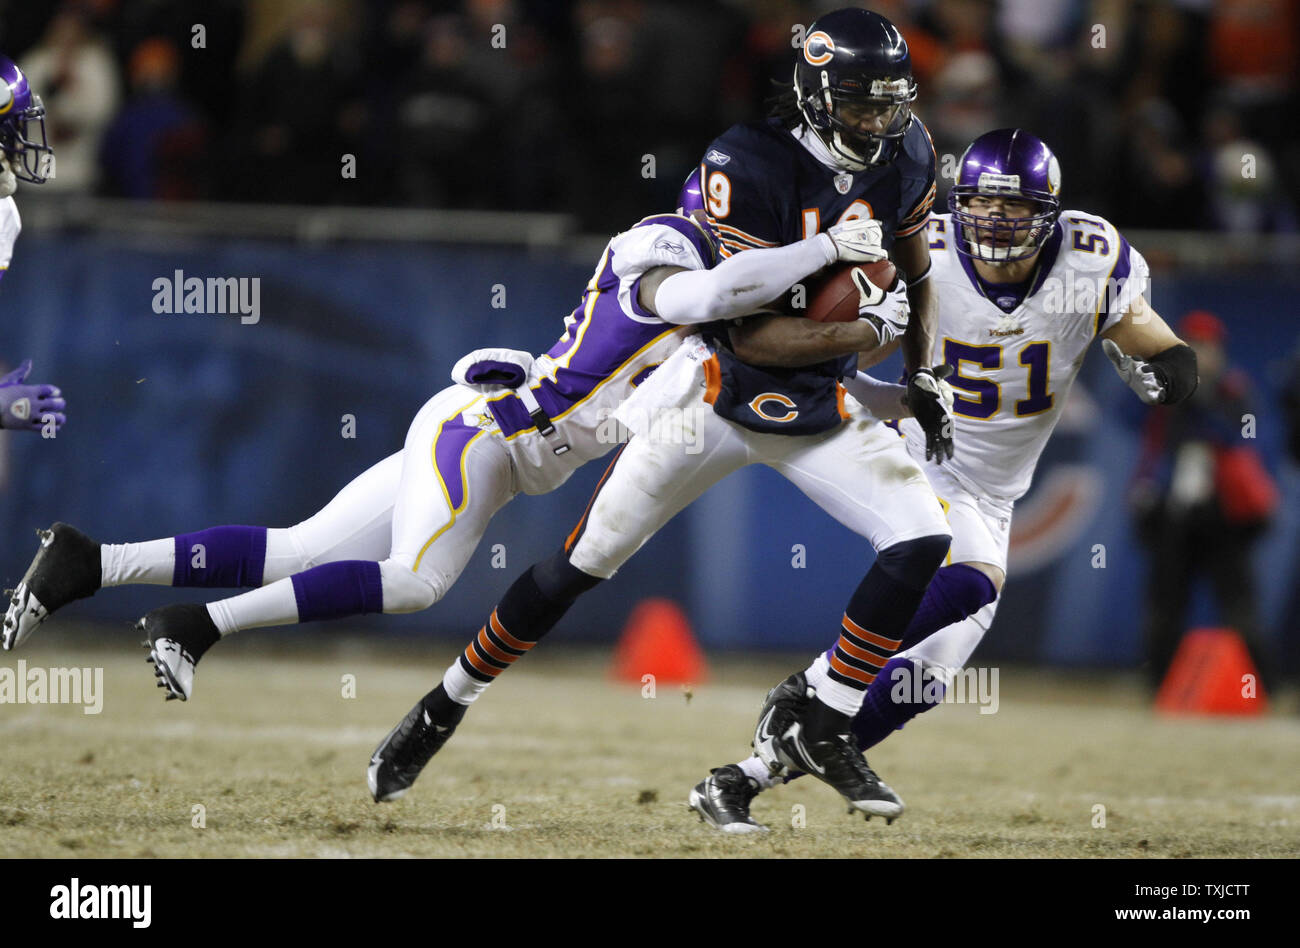
[[139,622],[159,685],[186,700],[199,658],[230,632],[426,609],[506,502],[554,490],[614,449],[610,412],[679,347],[689,324],[753,313],[831,263],[879,256],[880,225],[866,218],[718,263],[707,224],[646,217],[610,241],[550,351],[536,360],[499,349],[462,359],[456,385],[425,403],[404,450],[308,520],[136,544],[99,544],[68,524],[42,531],[13,590],[3,645],[21,645],[56,609],[100,586],[255,586],[207,606],[164,606]]

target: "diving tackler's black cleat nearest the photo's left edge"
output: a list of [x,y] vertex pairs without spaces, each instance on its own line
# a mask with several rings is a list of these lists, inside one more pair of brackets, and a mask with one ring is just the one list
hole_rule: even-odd
[[9,596],[0,645],[8,652],[22,645],[56,609],[84,599],[99,589],[99,544],[75,527],[56,523],[36,531],[40,549]]

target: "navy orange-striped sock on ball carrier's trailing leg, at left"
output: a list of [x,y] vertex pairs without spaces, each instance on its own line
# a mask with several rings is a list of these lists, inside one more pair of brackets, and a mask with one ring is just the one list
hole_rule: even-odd
[[442,681],[445,693],[458,704],[472,702],[500,672],[528,654],[578,596],[599,581],[572,566],[563,551],[529,567],[447,668]]

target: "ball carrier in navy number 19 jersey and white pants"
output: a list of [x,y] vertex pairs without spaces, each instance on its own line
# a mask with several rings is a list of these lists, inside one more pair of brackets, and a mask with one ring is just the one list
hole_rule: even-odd
[[[952,456],[945,389],[926,363],[936,315],[926,234],[935,153],[911,114],[915,98],[898,30],[867,10],[838,10],[812,23],[777,114],[737,125],[710,144],[681,205],[703,205],[725,256],[771,252],[866,221],[871,228],[859,235],[858,259],[890,255],[907,283],[881,293],[888,302],[871,307],[867,319],[819,325],[797,345],[772,345],[768,325],[781,319],[775,313],[708,323],[685,339],[620,406],[618,417],[636,437],[563,549],[511,585],[442,683],[376,750],[372,769],[378,766],[391,787],[391,796],[376,798],[404,792],[468,705],[578,596],[611,577],[715,482],[762,463],[878,553],[845,609],[838,646],[807,668],[816,697],[775,736],[779,750],[788,766],[819,776],[858,810],[888,818],[902,811],[902,801],[854,746],[849,724],[898,649],[948,553],[950,532],[920,466],[879,421],[898,414],[901,386],[888,386],[893,402],[880,407],[858,388],[846,398],[841,380],[858,381],[858,352],[875,358],[901,341],[907,406],[926,433],[926,456]],[[859,289],[866,303],[867,289]],[[656,436],[654,420],[668,417],[681,419],[689,441],[703,449],[684,450],[686,438]]]

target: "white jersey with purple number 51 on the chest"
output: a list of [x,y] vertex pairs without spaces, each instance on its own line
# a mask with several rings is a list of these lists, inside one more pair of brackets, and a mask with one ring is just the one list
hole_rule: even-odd
[[[931,218],[930,238],[935,363],[954,367],[957,395],[956,456],[944,467],[974,493],[1011,502],[1030,489],[1088,346],[1147,293],[1147,261],[1109,221],[1063,211],[1026,298],[1004,312],[996,285],[991,299],[957,252],[950,215]],[[914,419],[900,429],[924,443]]]

